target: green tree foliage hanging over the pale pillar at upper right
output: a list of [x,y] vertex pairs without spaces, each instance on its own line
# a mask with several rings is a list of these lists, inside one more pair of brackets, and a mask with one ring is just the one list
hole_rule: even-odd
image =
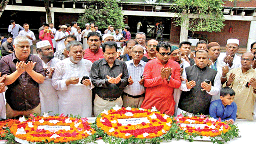
[[187,28],[193,32],[219,32],[224,27],[222,0],[173,0],[172,9],[178,17],[174,18],[176,26],[188,20]]

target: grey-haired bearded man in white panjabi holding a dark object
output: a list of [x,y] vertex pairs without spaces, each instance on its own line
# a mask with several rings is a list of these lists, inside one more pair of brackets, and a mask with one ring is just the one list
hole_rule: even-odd
[[80,42],[70,41],[66,48],[69,58],[58,62],[52,75],[52,86],[57,90],[59,97],[59,113],[91,117],[94,86],[91,79],[82,78],[89,77],[92,62],[83,59],[83,47]]

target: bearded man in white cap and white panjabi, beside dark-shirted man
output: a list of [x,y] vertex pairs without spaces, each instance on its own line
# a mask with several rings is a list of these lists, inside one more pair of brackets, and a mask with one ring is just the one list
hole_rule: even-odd
[[43,40],[36,43],[36,52],[42,60],[45,70],[45,79],[43,84],[39,84],[39,97],[41,102],[41,115],[49,112],[49,115],[59,114],[57,90],[52,86],[52,73],[54,66],[60,60],[54,58],[52,46],[49,41]]

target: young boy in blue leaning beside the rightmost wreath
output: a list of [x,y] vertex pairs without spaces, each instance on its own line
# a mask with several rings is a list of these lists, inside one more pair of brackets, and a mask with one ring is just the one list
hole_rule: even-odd
[[220,90],[220,100],[212,101],[210,105],[210,116],[215,119],[221,118],[221,121],[225,121],[227,124],[233,124],[236,120],[236,103],[233,102],[235,98],[235,92],[230,87],[223,87]]

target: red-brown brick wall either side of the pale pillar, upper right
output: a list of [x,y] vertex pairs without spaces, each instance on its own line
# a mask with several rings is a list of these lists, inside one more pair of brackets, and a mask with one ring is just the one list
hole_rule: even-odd
[[[236,38],[240,41],[240,47],[246,47],[250,30],[250,21],[226,20],[224,23],[225,27],[221,29],[221,32],[195,32],[195,34],[206,34],[208,43],[217,42],[220,45],[226,45],[229,38]],[[233,28],[232,33],[228,32],[229,27]],[[179,43],[179,40],[180,27],[173,26],[171,28],[170,42]]]

